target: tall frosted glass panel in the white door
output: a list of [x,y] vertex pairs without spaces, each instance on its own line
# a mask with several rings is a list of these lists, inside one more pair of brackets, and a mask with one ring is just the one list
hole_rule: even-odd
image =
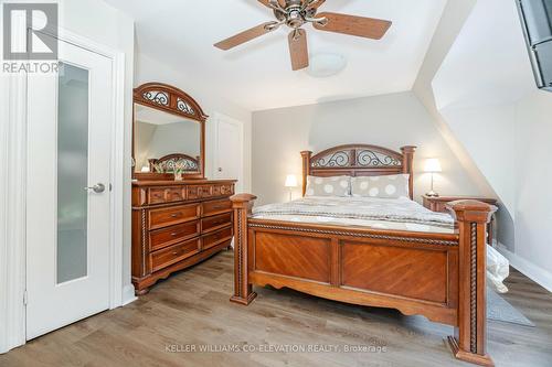
[[88,71],[60,63],[57,283],[87,274]]

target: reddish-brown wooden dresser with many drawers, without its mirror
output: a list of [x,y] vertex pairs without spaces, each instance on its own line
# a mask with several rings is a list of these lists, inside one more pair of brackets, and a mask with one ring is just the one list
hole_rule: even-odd
[[235,181],[132,182],[132,283],[159,279],[230,247]]

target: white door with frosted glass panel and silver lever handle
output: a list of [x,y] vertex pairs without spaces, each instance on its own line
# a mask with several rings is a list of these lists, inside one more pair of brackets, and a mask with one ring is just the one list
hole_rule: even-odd
[[59,45],[28,77],[28,339],[109,307],[112,60]]

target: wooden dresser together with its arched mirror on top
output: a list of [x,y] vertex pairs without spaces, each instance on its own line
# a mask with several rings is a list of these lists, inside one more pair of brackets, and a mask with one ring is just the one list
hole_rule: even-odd
[[[191,267],[233,238],[235,180],[206,180],[200,105],[170,85],[135,89],[132,283],[137,294]],[[159,158],[161,156],[161,158]]]

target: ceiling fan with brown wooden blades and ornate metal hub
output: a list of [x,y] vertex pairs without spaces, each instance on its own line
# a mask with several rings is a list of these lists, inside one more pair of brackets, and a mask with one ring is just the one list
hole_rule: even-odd
[[238,33],[216,43],[215,47],[226,51],[266,33],[274,32],[280,25],[286,24],[291,29],[288,36],[291,67],[294,71],[299,71],[309,66],[307,32],[302,29],[302,25],[312,23],[315,29],[319,31],[381,40],[392,24],[392,22],[381,19],[331,12],[319,13],[318,8],[326,0],[258,0],[258,2],[270,8],[277,21],[266,22]]

